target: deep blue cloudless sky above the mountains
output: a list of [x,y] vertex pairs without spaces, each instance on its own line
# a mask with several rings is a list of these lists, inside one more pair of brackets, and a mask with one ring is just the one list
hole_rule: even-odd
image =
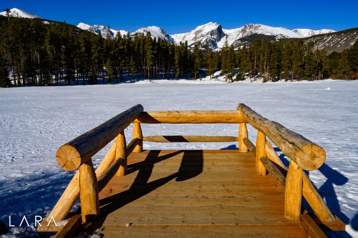
[[160,26],[168,34],[193,30],[207,22],[218,22],[224,29],[249,23],[336,31],[358,27],[357,0],[339,1],[2,1],[1,10],[17,7],[42,18],[77,25],[100,24],[112,29],[135,31],[145,26]]

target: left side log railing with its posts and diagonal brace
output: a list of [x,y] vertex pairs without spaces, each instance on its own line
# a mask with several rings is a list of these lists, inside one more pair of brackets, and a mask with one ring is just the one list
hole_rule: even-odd
[[[78,197],[81,200],[82,221],[91,221],[100,216],[98,193],[114,175],[126,175],[127,156],[141,146],[141,140],[137,137],[127,146],[124,129],[142,111],[142,105],[136,105],[58,149],[56,161],[59,166],[68,171],[79,169],[47,217],[47,221],[52,216],[56,221],[66,219]],[[92,156],[114,138],[115,142],[95,171]]]

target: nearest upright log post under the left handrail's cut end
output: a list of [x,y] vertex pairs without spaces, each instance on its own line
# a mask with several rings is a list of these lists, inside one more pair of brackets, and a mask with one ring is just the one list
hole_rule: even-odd
[[100,217],[98,183],[92,159],[79,167],[79,192],[82,221],[93,221]]

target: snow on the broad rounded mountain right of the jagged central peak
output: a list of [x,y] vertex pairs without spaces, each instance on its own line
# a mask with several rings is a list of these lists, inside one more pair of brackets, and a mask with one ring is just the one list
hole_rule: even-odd
[[[247,37],[252,34],[275,36],[277,40],[281,38],[304,37],[296,32],[293,32],[283,27],[272,27],[272,26],[265,26],[261,24],[248,24],[231,30],[223,29],[223,32],[228,36],[229,45],[233,44],[235,41],[240,40],[243,37]],[[219,48],[223,47],[224,42],[225,42],[225,37],[223,37],[221,41],[218,42],[218,47]]]

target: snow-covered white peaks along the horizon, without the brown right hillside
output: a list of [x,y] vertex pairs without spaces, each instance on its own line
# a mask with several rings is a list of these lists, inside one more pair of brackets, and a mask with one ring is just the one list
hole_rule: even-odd
[[[10,15],[14,17],[41,18],[37,15],[31,14],[30,12],[26,12],[18,8],[10,9],[10,11]],[[5,16],[6,12],[0,12],[0,14]],[[80,22],[77,27],[82,30],[88,30],[96,34],[101,34],[102,37],[107,37],[108,27],[106,26],[88,25],[83,22]],[[125,30],[110,29],[111,38],[115,37],[118,32],[120,32],[121,35],[127,35],[129,33]],[[189,47],[192,47],[195,43],[198,42],[200,42],[203,46],[205,44],[205,41],[208,41],[208,45],[211,49],[220,50],[224,46],[226,36],[228,39],[228,45],[240,47],[244,42],[252,43],[255,39],[277,41],[279,39],[311,37],[320,34],[328,34],[336,31],[329,29],[289,30],[284,27],[272,27],[262,24],[247,24],[245,26],[234,29],[223,29],[221,24],[218,24],[217,22],[209,22],[207,24],[197,26],[192,31],[180,34],[169,35],[161,27],[147,26],[130,33],[130,35],[132,37],[134,37],[136,34],[146,35],[147,32],[151,32],[151,36],[153,38],[155,37],[165,39],[168,42],[174,41],[176,44],[179,44],[179,42],[188,41]]]

